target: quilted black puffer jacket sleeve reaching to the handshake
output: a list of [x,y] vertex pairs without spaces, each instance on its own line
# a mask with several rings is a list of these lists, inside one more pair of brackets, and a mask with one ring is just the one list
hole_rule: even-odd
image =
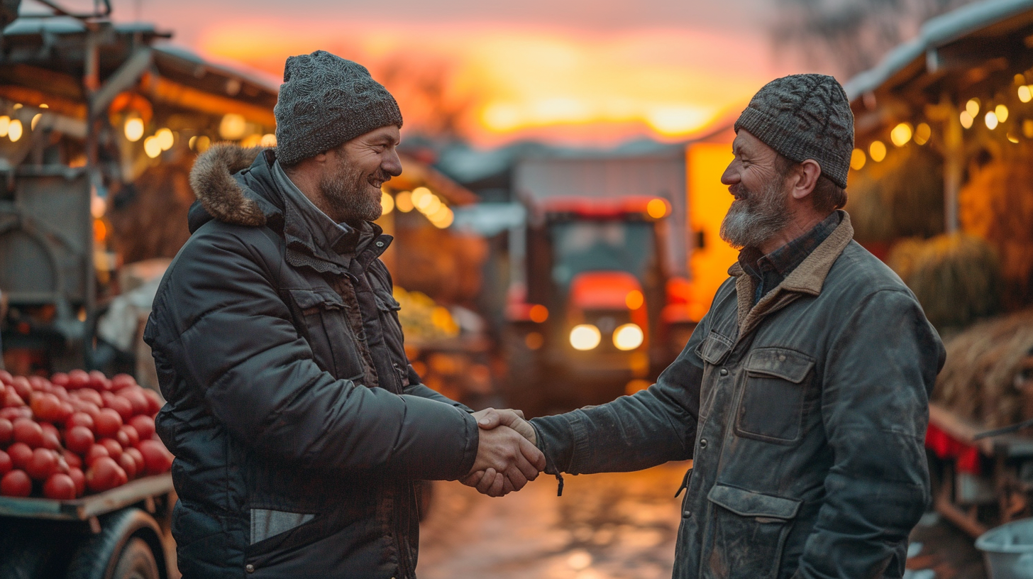
[[303,467],[466,475],[477,450],[473,418],[322,371],[259,250],[237,234],[195,234],[168,275],[164,303],[155,304],[167,310],[159,319],[175,326],[159,335],[178,342],[156,347],[200,389],[212,415],[256,452]]

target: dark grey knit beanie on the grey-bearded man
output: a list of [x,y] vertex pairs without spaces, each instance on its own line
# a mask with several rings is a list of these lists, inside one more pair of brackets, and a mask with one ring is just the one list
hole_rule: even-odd
[[735,121],[735,132],[739,129],[793,162],[814,159],[822,175],[846,188],[853,112],[836,79],[792,74],[768,83]]

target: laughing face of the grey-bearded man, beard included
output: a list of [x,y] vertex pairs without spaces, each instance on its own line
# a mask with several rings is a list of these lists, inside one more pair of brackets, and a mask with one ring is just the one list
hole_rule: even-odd
[[760,247],[792,220],[786,170],[774,149],[746,130],[732,142],[735,157],[721,183],[735,196],[721,222],[721,239],[735,248]]

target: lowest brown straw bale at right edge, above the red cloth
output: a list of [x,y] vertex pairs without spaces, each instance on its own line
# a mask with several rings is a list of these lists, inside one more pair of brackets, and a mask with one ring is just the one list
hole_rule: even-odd
[[975,324],[949,340],[946,349],[933,401],[989,428],[1033,418],[1023,415],[1014,379],[1033,354],[1033,310]]

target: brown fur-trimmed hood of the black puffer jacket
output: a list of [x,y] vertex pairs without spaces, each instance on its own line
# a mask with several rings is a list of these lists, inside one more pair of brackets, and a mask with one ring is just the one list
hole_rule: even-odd
[[241,180],[234,177],[251,166],[265,149],[245,149],[232,143],[219,143],[197,157],[190,170],[190,187],[209,215],[237,225],[255,227],[265,224],[265,212],[253,195],[248,194]]

